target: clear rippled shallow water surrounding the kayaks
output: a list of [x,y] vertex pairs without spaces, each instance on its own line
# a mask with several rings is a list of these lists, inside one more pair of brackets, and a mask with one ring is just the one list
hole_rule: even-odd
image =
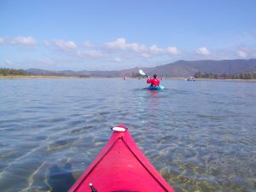
[[256,83],[0,79],[0,189],[67,191],[124,124],[176,191],[255,191]]

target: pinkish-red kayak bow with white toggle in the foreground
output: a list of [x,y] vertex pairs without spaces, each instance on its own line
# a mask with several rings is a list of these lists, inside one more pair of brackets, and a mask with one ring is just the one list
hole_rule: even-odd
[[69,192],[174,192],[133,141],[125,125],[113,135]]

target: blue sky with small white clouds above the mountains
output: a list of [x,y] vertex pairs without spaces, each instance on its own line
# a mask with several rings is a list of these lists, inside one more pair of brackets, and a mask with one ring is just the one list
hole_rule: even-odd
[[121,70],[256,58],[255,0],[0,0],[0,67]]

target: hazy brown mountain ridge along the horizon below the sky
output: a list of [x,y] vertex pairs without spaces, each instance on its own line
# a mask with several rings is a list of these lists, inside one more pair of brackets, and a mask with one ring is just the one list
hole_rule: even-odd
[[[30,75],[56,75],[73,77],[132,77],[138,73],[139,67],[123,69],[119,71],[49,71],[42,69],[27,69]],[[162,77],[189,77],[195,73],[215,73],[215,74],[236,74],[236,73],[256,73],[256,59],[248,60],[201,60],[185,61],[179,60],[157,67],[142,67],[143,71],[152,76],[157,73]]]

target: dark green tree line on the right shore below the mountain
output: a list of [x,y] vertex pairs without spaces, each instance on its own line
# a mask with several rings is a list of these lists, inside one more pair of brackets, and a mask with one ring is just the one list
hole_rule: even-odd
[[256,79],[256,73],[216,74],[197,72],[194,75],[198,79]]

